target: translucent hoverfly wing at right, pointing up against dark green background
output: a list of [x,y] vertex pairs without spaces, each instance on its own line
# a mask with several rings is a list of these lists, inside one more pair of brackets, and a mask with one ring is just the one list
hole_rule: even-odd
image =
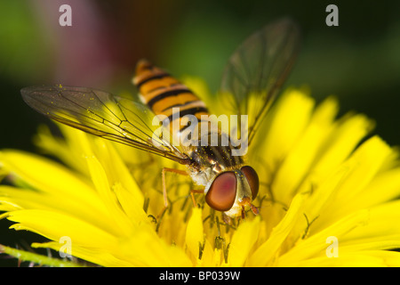
[[220,91],[231,96],[238,115],[248,115],[249,144],[292,69],[299,45],[299,28],[284,18],[252,34],[229,58]]

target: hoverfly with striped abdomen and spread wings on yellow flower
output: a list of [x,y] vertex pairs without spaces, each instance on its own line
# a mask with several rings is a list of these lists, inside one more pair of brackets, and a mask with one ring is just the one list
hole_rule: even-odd
[[[292,68],[299,41],[299,29],[292,20],[277,20],[248,37],[228,60],[220,89],[231,94],[238,115],[253,116],[248,145]],[[30,107],[60,123],[185,165],[193,181],[204,186],[207,204],[226,216],[244,217],[249,208],[257,214],[252,201],[259,191],[259,177],[245,164],[244,156],[231,154],[231,144],[176,146],[162,135],[157,134],[155,139],[152,120],[159,115],[172,118],[176,108],[180,110],[179,119],[191,114],[199,119],[199,126],[209,124],[201,119],[208,114],[204,102],[145,60],[139,61],[133,83],[141,102],[92,88],[62,85],[30,86],[21,94]],[[249,107],[254,95],[260,102],[255,111]],[[180,136],[184,128],[181,126],[172,136]],[[220,129],[217,133],[219,138],[225,135]],[[166,203],[165,197],[164,190]]]

